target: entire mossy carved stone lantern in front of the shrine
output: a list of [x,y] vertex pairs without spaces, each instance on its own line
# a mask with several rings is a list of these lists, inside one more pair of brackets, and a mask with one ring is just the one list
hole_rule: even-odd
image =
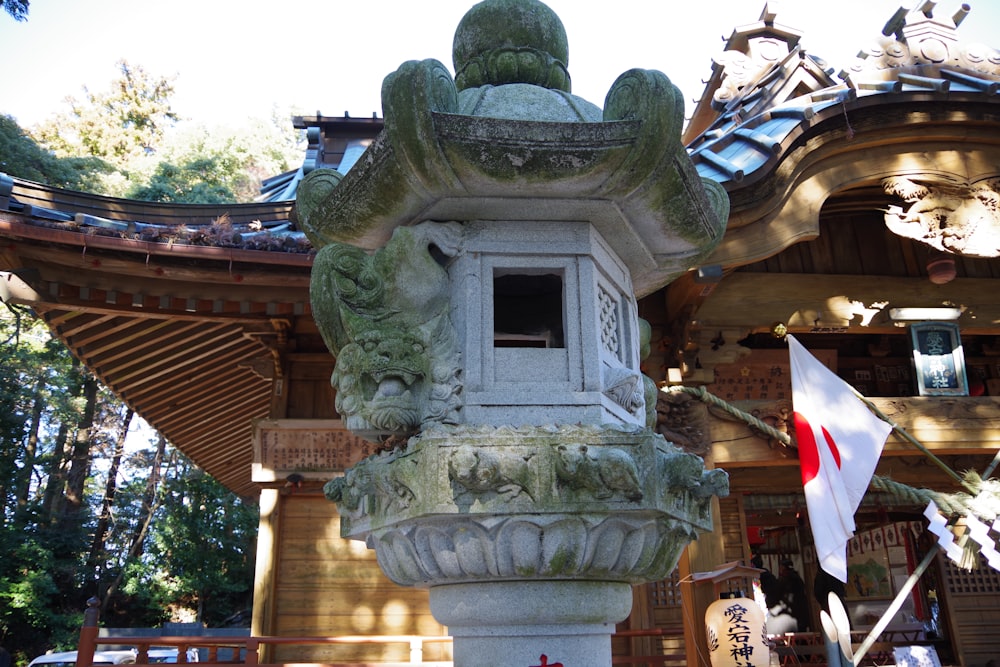
[[603,110],[570,93],[540,2],[475,5],[454,59],[386,77],[384,132],[300,186],[337,410],[381,445],[326,493],[387,576],[430,589],[456,665],[609,665],[631,585],[728,493],[652,430],[635,301],[712,250],[728,199],[663,74],[626,72]]

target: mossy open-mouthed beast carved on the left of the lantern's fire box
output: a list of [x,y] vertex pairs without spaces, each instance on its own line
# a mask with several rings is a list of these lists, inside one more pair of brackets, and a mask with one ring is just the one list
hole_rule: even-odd
[[337,411],[356,434],[380,441],[455,423],[460,353],[437,258],[457,254],[461,234],[457,223],[426,222],[398,228],[374,254],[343,243],[317,254],[313,312],[337,357]]

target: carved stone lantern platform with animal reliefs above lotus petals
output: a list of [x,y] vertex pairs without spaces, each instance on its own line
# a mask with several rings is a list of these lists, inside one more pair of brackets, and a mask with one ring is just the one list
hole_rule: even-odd
[[645,428],[440,426],[325,491],[400,584],[639,583],[712,529],[729,479]]

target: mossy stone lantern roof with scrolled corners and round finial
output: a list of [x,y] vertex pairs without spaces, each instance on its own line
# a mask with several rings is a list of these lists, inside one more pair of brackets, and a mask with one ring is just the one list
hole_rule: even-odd
[[473,7],[454,61],[455,79],[436,60],[403,63],[355,167],[303,180],[298,217],[317,248],[373,250],[426,220],[588,222],[643,296],[721,240],[728,198],[685,152],[682,97],[662,73],[622,74],[603,110],[572,95],[565,31],[537,0]]

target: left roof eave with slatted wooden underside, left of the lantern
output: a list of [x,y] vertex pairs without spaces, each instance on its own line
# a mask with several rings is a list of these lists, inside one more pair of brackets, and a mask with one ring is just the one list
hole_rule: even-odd
[[0,301],[31,307],[111,391],[253,496],[253,422],[310,317],[292,202],[160,205],[0,175]]

